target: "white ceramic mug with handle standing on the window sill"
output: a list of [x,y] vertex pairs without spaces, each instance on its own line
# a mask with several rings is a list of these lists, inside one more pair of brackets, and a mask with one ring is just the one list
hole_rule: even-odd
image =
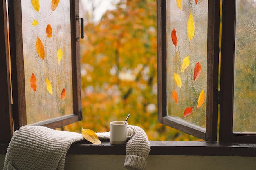
[[[115,145],[126,144],[127,139],[134,135],[134,128],[124,124],[124,121],[112,121],[109,124],[110,128],[110,143]],[[127,136],[127,128],[132,128],[132,135]]]

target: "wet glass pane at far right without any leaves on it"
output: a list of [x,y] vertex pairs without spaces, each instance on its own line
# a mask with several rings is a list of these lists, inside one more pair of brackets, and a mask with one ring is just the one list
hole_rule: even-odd
[[234,132],[256,132],[256,1],[236,1]]

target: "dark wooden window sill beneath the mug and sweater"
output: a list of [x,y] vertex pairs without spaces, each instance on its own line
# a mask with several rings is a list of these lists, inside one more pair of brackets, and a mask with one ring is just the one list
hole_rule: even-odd
[[[256,144],[227,144],[198,141],[150,141],[149,155],[256,156]],[[6,154],[8,144],[0,144],[0,154]],[[126,145],[101,145],[81,141],[71,145],[67,154],[126,155]]]

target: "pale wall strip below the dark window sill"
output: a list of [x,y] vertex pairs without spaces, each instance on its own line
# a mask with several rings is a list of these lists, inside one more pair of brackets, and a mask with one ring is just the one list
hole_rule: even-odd
[[[0,155],[0,167],[5,155]],[[125,155],[67,155],[65,170],[126,170]],[[256,157],[148,155],[146,170],[255,170]]]

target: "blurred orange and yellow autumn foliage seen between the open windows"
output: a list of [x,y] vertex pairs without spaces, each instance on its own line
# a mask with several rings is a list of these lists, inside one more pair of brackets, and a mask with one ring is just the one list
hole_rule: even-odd
[[83,121],[64,129],[106,132],[110,121],[124,121],[131,113],[128,124],[143,128],[150,140],[198,140],[157,122],[155,0],[121,0],[99,22],[85,18]]

